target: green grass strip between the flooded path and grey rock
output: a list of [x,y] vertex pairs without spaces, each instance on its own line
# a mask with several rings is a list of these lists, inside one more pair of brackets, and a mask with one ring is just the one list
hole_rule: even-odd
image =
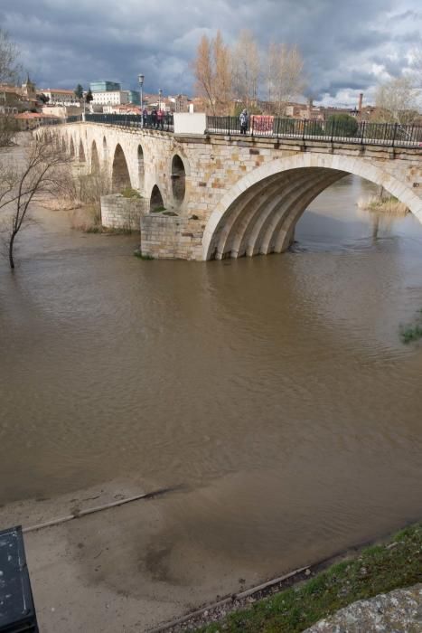
[[201,633],[299,633],[356,600],[422,582],[422,524],[364,549],[309,581],[231,613]]

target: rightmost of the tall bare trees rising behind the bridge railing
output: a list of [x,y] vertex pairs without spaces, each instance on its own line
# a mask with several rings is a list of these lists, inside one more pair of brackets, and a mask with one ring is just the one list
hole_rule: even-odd
[[270,43],[267,50],[267,99],[275,113],[286,114],[286,106],[305,88],[304,60],[296,46]]

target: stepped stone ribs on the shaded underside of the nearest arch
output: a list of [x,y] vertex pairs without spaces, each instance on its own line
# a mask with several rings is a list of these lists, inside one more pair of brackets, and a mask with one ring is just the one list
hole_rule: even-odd
[[214,232],[209,258],[283,252],[293,240],[295,224],[314,198],[347,175],[314,167],[281,172],[251,186],[230,205]]

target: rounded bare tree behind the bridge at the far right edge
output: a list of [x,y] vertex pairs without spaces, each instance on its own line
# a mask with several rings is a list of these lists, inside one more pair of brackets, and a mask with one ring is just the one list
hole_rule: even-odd
[[375,95],[373,120],[410,125],[418,117],[417,89],[411,76],[397,77],[380,84]]

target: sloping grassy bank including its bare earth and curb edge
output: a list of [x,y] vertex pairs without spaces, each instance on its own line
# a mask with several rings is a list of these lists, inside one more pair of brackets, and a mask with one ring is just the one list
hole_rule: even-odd
[[278,584],[246,592],[243,597],[210,606],[192,619],[155,630],[300,633],[357,600],[422,582],[422,524],[408,526],[321,571],[325,566],[327,562],[310,566]]

